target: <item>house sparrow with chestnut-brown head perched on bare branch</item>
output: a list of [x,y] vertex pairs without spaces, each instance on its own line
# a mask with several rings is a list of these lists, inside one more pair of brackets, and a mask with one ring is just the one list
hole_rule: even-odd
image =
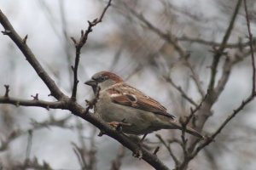
[[[113,72],[98,72],[84,84],[91,86],[95,94],[99,88],[96,114],[111,125],[120,123],[124,133],[140,135],[160,129],[183,129],[163,105],[126,84]],[[187,126],[185,132],[203,138],[191,127]]]

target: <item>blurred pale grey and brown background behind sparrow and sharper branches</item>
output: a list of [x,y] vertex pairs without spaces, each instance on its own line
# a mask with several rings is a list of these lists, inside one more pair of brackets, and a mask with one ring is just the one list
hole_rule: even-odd
[[[37,59],[67,95],[71,95],[75,48],[70,37],[79,39],[87,20],[102,14],[107,1],[100,0],[0,0],[7,15]],[[82,48],[79,63],[78,102],[92,98],[83,82],[97,71],[113,71],[132,86],[157,99],[179,117],[194,106],[177,90],[183,89],[200,103],[207,91],[214,48],[224,37],[236,1],[232,0],[119,0],[113,1],[102,23],[93,28]],[[251,28],[256,34],[256,2],[247,1]],[[0,26],[1,31],[3,27]],[[161,32],[179,44],[184,56],[161,36]],[[173,35],[173,36],[172,36]],[[248,51],[247,22],[241,7],[235,26],[218,68],[224,58],[235,59],[224,91],[212,107],[212,116],[203,133],[213,133],[227,116],[241,104],[252,88],[252,69]],[[174,44],[175,44],[174,43]],[[44,82],[38,78],[20,50],[9,37],[0,35],[0,94],[9,84],[12,97],[53,101]],[[172,80],[166,78],[172,77]],[[196,84],[198,83],[198,84]],[[189,169],[253,170],[256,167],[255,101],[236,116],[216,141],[195,157]],[[99,130],[67,111],[0,105],[0,169],[153,169],[145,161],[131,156],[108,136],[98,137]],[[180,138],[176,130],[159,133],[166,141]],[[169,167],[174,166],[152,133],[145,141]],[[181,156],[177,144],[172,150]],[[83,157],[83,158],[81,158]],[[116,165],[121,163],[121,167]],[[1,168],[2,167],[2,168]],[[43,169],[44,169],[43,168]]]

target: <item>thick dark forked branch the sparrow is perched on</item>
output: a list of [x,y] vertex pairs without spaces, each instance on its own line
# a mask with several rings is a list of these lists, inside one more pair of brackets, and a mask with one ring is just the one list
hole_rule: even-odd
[[[111,0],[110,0],[111,2]],[[106,9],[107,10],[107,9]],[[103,15],[105,12],[103,12]],[[102,17],[100,20],[96,20],[90,24],[94,25],[96,22],[102,21]],[[5,31],[3,31],[3,34],[8,35],[20,48],[22,53],[25,55],[26,59],[29,61],[29,63],[32,65],[34,70],[38,73],[38,76],[44,81],[46,86],[49,88],[51,94],[55,96],[56,99],[59,101],[56,102],[46,102],[42,100],[22,100],[22,99],[13,99],[13,98],[6,98],[1,97],[0,103],[5,104],[12,104],[12,105],[25,105],[25,106],[39,106],[44,108],[53,108],[53,109],[63,109],[68,110],[73,113],[73,115],[79,116],[82,119],[84,119],[87,122],[90,122],[94,126],[100,128],[104,133],[106,133],[108,136],[110,136],[113,139],[116,139],[119,141],[120,144],[123,144],[126,148],[131,150],[132,152],[137,152],[137,150],[141,150],[143,154],[143,160],[147,161],[148,164],[150,164],[155,169],[161,169],[161,170],[169,170],[166,165],[163,164],[160,159],[153,155],[152,153],[148,152],[148,150],[145,150],[143,148],[138,148],[138,145],[134,143],[129,137],[127,137],[125,134],[119,133],[112,127],[110,127],[106,122],[103,122],[93,114],[84,114],[85,109],[73,101],[73,99],[69,99],[65,94],[62,94],[61,90],[56,86],[55,82],[49,77],[49,75],[44,71],[43,67],[39,64],[38,60],[35,58],[34,54],[32,54],[32,51],[26,43],[22,41],[20,36],[16,33],[14,28],[9,23],[9,20],[6,18],[6,16],[2,13],[0,10],[0,23],[5,28]],[[83,36],[86,33],[83,33]],[[87,40],[87,37],[83,38],[81,42],[85,43]],[[75,40],[73,39],[75,42]],[[85,42],[84,42],[85,41]],[[63,105],[64,104],[64,105]]]

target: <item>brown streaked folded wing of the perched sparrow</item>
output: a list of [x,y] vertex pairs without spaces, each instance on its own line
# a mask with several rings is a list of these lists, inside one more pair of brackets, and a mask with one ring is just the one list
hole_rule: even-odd
[[143,111],[151,111],[155,114],[171,117],[172,119],[175,117],[169,114],[166,108],[158,101],[127,84],[119,84],[119,86],[109,88],[108,93],[115,104],[126,105]]

